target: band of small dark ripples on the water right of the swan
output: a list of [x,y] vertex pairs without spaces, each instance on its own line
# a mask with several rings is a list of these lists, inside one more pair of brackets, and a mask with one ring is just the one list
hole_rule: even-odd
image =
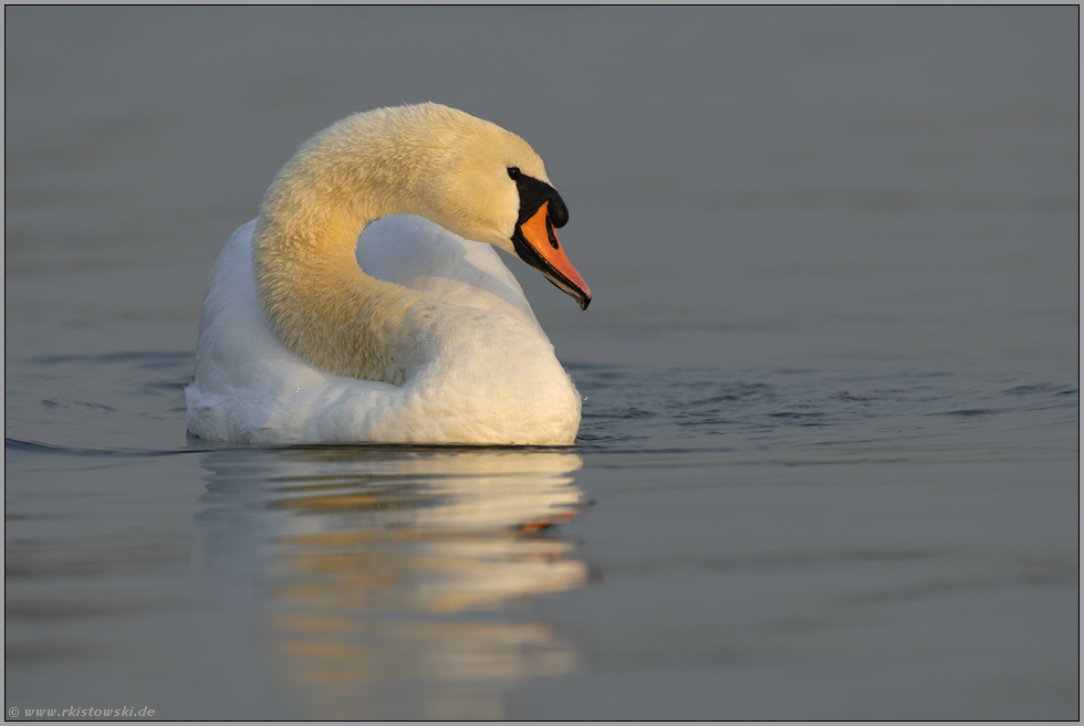
[[1075,420],[1078,407],[1075,381],[1017,382],[1015,376],[974,371],[739,375],[595,365],[570,372],[584,393],[579,441],[607,451],[944,441],[976,427],[997,438]]

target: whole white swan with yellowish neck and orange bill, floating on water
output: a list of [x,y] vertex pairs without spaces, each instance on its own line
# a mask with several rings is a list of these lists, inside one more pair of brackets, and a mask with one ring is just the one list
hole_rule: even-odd
[[188,431],[220,443],[567,445],[581,399],[493,246],[587,308],[519,136],[438,104],[333,124],[227,242]]

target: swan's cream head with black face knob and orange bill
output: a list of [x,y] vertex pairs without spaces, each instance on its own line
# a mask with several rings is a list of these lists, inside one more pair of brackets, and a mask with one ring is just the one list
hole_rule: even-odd
[[459,236],[517,255],[587,309],[591,288],[564,253],[555,229],[569,208],[550,185],[539,155],[519,136],[437,104],[409,106],[424,160],[411,197],[418,213]]

